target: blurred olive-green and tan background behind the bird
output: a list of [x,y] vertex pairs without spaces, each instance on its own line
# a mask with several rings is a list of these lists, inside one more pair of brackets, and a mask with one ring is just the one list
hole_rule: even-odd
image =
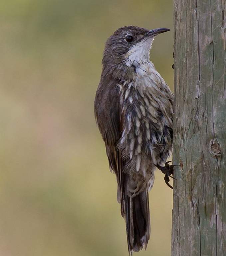
[[[128,255],[93,103],[106,39],[168,27],[151,60],[173,86],[173,2],[0,2],[0,255]],[[172,190],[156,171],[147,252],[169,256]]]

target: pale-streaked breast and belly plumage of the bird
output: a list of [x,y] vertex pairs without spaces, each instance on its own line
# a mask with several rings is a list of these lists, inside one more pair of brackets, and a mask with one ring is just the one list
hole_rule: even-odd
[[[152,63],[140,65],[133,79],[117,86],[124,116],[117,148],[126,159],[125,172],[138,172],[151,188],[155,165],[164,164],[172,148],[173,95]],[[141,184],[135,188],[140,189]]]

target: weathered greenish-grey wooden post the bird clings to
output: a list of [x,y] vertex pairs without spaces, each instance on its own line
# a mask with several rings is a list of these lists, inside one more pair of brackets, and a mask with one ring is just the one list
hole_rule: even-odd
[[174,0],[172,256],[226,255],[226,1]]

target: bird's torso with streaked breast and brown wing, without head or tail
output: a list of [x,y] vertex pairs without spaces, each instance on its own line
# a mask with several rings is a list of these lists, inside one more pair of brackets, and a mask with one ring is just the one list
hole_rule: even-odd
[[134,74],[126,81],[103,80],[95,99],[110,169],[120,191],[122,172],[129,174],[124,185],[130,196],[146,185],[151,189],[155,165],[165,163],[173,139],[173,95],[168,85],[151,62],[136,67]]

